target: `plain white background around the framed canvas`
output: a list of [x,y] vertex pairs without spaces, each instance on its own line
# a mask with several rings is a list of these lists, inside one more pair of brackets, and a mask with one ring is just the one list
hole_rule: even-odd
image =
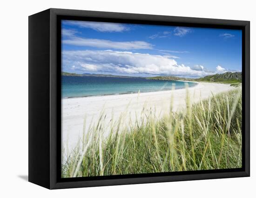
[[[256,194],[256,14],[253,0],[0,1],[0,197],[252,197]],[[27,182],[28,16],[47,8],[251,21],[251,177],[49,191]]]

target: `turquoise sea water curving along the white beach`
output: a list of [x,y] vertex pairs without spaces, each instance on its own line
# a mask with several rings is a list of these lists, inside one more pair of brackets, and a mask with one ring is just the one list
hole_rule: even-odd
[[[186,83],[173,80],[149,80],[144,78],[117,78],[95,76],[61,76],[61,97],[85,97],[136,92],[156,92],[182,89]],[[188,82],[188,86],[196,83]]]

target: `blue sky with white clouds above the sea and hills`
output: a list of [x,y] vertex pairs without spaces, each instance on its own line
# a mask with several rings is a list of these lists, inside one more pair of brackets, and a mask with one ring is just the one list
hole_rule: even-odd
[[242,71],[242,31],[62,20],[62,71],[198,78]]

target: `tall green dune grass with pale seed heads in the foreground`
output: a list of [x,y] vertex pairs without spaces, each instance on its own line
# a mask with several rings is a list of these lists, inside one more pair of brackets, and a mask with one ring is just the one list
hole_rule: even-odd
[[[187,92],[186,108],[156,118],[142,111],[135,123],[121,127],[111,121],[103,138],[105,115],[84,131],[62,161],[62,177],[88,177],[242,167],[241,88],[212,96],[194,105]],[[172,103],[172,100],[171,100]],[[145,110],[145,109],[144,109]],[[84,127],[85,129],[85,127]]]

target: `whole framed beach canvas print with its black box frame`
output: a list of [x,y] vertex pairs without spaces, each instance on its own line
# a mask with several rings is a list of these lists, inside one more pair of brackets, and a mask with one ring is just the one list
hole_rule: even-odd
[[29,181],[49,189],[249,176],[249,21],[29,17]]

